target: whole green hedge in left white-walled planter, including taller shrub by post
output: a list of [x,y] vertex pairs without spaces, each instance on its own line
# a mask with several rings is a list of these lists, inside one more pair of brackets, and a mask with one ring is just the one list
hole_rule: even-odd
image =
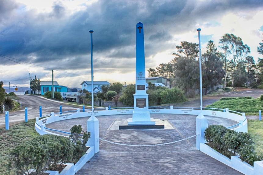
[[9,172],[27,175],[34,169],[34,175],[42,175],[46,170],[63,170],[65,163],[76,163],[87,151],[90,132],[81,125],[74,125],[70,131],[70,138],[45,134],[17,145],[9,154]]

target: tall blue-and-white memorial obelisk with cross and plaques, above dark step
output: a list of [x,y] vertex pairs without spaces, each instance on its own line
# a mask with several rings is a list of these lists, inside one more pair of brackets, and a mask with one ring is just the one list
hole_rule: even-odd
[[145,57],[144,57],[144,34],[143,24],[136,25],[136,85],[133,95],[134,110],[132,118],[128,119],[128,125],[152,125],[155,124],[150,118],[148,94],[146,93],[145,81]]

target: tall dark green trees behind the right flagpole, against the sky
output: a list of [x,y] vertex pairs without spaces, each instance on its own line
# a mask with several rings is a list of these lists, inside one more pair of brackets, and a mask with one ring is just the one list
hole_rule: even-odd
[[[148,69],[149,77],[169,78],[173,86],[184,90],[188,96],[194,96],[199,89],[199,44],[182,41],[175,46],[177,53],[168,64],[161,63],[155,69]],[[250,56],[250,47],[240,37],[225,33],[218,42],[210,40],[206,52],[201,55],[202,87],[205,94],[218,84],[226,87],[263,88],[263,58],[258,62]],[[219,51],[218,51],[219,49]],[[263,55],[263,40],[257,47]]]

